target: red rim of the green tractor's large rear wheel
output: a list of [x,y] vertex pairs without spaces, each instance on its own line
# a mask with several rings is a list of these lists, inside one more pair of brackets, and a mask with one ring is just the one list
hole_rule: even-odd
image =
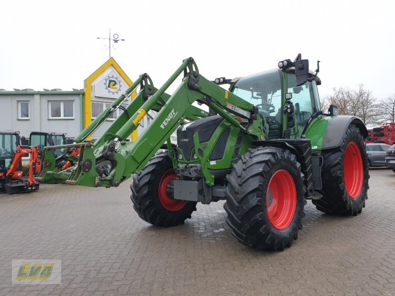
[[363,166],[361,152],[354,142],[347,145],[344,153],[343,172],[347,192],[356,198],[362,190]]

